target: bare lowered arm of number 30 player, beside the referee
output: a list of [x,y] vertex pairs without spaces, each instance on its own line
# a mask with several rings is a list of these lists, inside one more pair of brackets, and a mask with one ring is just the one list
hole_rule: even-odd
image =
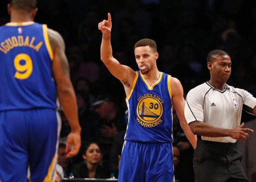
[[[170,84],[170,83],[169,83]],[[180,120],[180,126],[183,129],[187,139],[195,149],[197,146],[197,137],[188,126],[184,115],[185,99],[183,97],[183,87],[177,78],[171,77],[172,102]]]

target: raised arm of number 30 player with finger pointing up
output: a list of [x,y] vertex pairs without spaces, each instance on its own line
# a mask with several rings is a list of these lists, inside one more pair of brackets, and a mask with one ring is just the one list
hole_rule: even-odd
[[108,20],[103,20],[98,24],[98,28],[102,31],[100,58],[111,74],[122,82],[126,96],[129,96],[136,72],[126,65],[121,65],[112,55],[110,41],[112,23],[110,14],[108,14]]

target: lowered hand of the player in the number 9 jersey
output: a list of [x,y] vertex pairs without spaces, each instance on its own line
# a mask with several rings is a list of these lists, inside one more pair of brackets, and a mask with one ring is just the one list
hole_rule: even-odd
[[79,132],[70,132],[66,140],[66,157],[73,157],[78,154],[81,147],[81,135]]

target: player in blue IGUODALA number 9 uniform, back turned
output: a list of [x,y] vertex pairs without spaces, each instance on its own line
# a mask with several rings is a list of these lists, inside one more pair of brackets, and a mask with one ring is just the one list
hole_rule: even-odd
[[62,36],[33,22],[36,0],[12,0],[0,27],[0,181],[51,182],[60,131],[58,99],[71,133],[66,156],[78,153],[81,127]]

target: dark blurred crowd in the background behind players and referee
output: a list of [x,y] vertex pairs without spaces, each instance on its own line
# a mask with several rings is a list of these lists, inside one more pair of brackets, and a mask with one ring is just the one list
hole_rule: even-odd
[[[0,24],[9,22],[0,1]],[[65,158],[70,131],[62,116],[59,165],[64,177],[118,176],[118,163],[127,124],[122,84],[100,61],[102,33],[97,25],[112,16],[114,57],[137,70],[133,46],[151,38],[158,45],[160,71],[177,77],[186,93],[209,80],[207,53],[222,49],[232,59],[228,84],[256,96],[256,2],[243,0],[38,0],[35,21],[57,30],[66,43],[71,80],[76,90],[82,147]],[[175,112],[175,111],[174,111]],[[177,182],[193,182],[193,149],[173,118],[173,154]],[[252,117],[244,113],[242,120]],[[183,174],[183,175],[182,175]],[[186,175],[184,175],[186,174]]]

